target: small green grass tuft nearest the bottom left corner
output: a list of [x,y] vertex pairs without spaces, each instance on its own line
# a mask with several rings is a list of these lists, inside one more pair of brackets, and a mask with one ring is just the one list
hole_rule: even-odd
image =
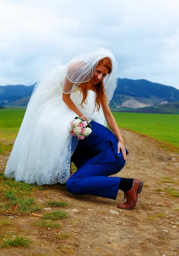
[[12,236],[9,236],[9,238],[3,239],[3,243],[0,247],[27,247],[30,242],[31,241],[29,239],[25,239],[23,238],[23,236],[16,236],[14,238]]

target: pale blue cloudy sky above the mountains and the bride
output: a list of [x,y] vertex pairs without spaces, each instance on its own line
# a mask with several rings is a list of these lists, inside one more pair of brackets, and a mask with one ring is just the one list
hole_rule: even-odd
[[91,47],[118,77],[179,89],[179,0],[0,0],[0,85],[31,85]]

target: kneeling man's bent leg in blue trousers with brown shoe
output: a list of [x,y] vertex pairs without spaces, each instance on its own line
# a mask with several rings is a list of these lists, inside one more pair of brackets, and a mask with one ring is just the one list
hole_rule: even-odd
[[119,160],[81,166],[67,181],[66,189],[75,195],[96,195],[111,199],[116,199],[118,189],[121,189],[124,192],[124,203],[118,204],[118,208],[133,209],[144,183],[136,179],[106,177],[119,172],[123,166]]

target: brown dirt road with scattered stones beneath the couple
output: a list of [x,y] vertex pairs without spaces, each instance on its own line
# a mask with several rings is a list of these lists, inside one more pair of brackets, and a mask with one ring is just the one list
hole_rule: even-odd
[[[62,221],[60,231],[70,234],[64,240],[54,238],[58,230],[32,225],[37,217],[18,216],[3,232],[18,231],[32,243],[24,248],[5,248],[2,256],[177,256],[179,255],[179,198],[169,192],[179,192],[179,155],[166,152],[152,138],[121,129],[129,150],[127,164],[116,176],[135,177],[144,182],[138,204],[133,210],[110,213],[123,200],[95,196],[75,196],[64,185],[47,186],[37,191],[37,204],[47,200],[64,200],[69,216]],[[4,168],[8,154],[1,156]],[[156,191],[156,189],[158,191]],[[54,207],[55,208],[55,207]],[[61,245],[57,249],[57,247]]]

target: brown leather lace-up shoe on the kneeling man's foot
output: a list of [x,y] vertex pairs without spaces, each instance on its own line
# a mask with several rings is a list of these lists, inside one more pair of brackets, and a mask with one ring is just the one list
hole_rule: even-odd
[[140,194],[144,183],[140,180],[133,179],[132,188],[124,193],[123,204],[118,204],[118,208],[130,210],[136,206],[138,194]]

